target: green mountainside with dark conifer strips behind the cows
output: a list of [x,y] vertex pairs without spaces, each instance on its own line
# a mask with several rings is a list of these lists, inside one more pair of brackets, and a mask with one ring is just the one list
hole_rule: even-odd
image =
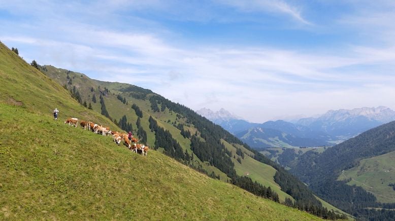
[[[287,202],[322,217],[334,215],[297,178],[188,107],[137,86],[91,80],[49,65],[41,70],[83,105],[120,126],[133,128],[149,146],[191,168],[261,197]],[[252,162],[264,171],[244,166]]]

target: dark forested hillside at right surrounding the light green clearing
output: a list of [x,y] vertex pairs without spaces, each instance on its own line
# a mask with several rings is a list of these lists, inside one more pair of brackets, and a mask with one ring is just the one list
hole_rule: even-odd
[[350,180],[337,180],[343,170],[358,166],[360,160],[393,151],[395,122],[390,122],[328,148],[321,154],[309,151],[299,157],[299,163],[291,171],[318,196],[351,214],[376,220],[393,219],[395,211],[390,209],[395,208],[395,202],[378,203],[372,193],[355,185],[347,185]]

